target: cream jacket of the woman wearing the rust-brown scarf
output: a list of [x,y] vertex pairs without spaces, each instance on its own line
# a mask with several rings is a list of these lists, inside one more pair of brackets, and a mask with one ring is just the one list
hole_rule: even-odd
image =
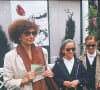
[[[45,60],[48,61],[48,52],[42,48]],[[27,74],[22,58],[17,54],[16,49],[11,50],[4,58],[4,86],[13,90],[33,90],[32,83],[21,85],[22,78]]]

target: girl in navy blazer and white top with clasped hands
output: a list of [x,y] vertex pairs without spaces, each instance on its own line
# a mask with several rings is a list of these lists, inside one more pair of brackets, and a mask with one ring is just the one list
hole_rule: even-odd
[[54,80],[61,90],[83,90],[88,84],[86,69],[75,57],[75,49],[73,40],[65,40],[53,67]]

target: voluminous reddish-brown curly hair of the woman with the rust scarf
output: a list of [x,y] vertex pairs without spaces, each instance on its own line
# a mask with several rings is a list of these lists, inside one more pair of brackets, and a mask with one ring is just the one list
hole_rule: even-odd
[[39,25],[35,24],[33,21],[19,19],[14,21],[8,28],[8,33],[11,41],[14,43],[20,43],[20,36],[24,31],[28,31],[29,29],[34,29],[36,32],[39,30]]

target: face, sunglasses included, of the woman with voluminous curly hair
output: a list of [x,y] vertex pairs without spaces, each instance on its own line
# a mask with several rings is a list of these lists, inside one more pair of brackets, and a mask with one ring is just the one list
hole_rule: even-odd
[[21,44],[29,46],[33,43],[37,32],[34,29],[29,29],[28,31],[23,32],[21,36]]

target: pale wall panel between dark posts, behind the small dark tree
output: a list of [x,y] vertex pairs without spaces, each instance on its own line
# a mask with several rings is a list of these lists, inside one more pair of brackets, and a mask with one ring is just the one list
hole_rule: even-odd
[[51,62],[59,55],[59,49],[62,39],[65,36],[66,20],[68,14],[65,9],[74,12],[73,20],[75,21],[75,42],[77,45],[76,54],[80,55],[80,1],[49,1],[50,15],[50,54]]

